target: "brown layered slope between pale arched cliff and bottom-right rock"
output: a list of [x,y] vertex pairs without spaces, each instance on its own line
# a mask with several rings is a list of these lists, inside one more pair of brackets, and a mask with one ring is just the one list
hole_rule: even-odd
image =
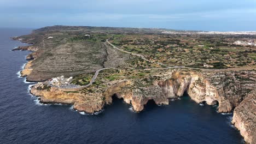
[[232,107],[238,106],[247,94],[256,88],[256,71],[207,71],[206,79],[217,88],[221,97],[229,100]]

